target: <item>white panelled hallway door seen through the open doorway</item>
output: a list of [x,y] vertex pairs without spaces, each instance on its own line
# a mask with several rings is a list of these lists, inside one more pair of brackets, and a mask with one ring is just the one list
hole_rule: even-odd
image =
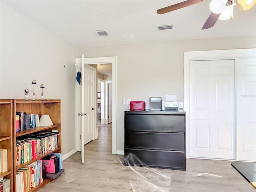
[[94,139],[95,129],[95,73],[96,69],[84,64],[84,145]]

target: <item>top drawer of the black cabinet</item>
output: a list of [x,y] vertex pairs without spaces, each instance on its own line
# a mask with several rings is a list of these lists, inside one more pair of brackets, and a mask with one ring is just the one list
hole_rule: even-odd
[[126,114],[126,131],[185,131],[184,115]]

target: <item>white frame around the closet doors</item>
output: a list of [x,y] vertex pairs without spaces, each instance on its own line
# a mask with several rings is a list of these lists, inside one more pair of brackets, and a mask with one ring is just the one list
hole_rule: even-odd
[[[256,49],[213,50],[184,52],[184,111],[186,111],[186,158],[190,158],[190,86],[189,63],[200,60],[225,60],[255,56]],[[235,77],[236,78],[236,77]],[[236,102],[236,99],[235,99]],[[236,138],[236,136],[235,136]]]

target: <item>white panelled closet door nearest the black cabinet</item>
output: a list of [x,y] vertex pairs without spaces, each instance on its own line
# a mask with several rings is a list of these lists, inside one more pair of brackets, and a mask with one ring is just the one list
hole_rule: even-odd
[[190,156],[235,158],[234,60],[190,61]]

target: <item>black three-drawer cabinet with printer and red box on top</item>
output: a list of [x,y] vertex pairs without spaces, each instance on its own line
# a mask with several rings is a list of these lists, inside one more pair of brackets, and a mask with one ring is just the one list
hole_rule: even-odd
[[124,111],[124,165],[186,170],[186,112]]

